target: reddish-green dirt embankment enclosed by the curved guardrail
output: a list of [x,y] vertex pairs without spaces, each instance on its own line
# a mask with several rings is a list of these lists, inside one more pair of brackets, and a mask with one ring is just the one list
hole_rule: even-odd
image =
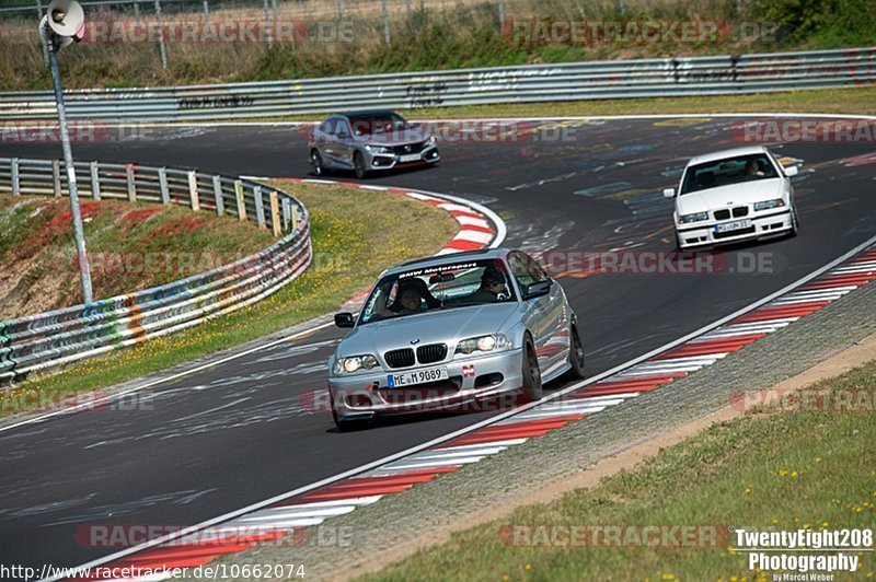
[[[182,207],[82,202],[95,299],[228,264],[272,236],[251,223]],[[0,196],[0,321],[81,303],[70,203]]]

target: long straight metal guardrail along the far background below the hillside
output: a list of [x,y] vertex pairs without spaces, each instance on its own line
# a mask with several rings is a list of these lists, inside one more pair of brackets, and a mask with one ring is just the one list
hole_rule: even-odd
[[[373,107],[671,97],[840,88],[876,82],[876,47],[615,60],[67,92],[68,117],[209,120]],[[51,119],[50,92],[0,93],[0,119]]]

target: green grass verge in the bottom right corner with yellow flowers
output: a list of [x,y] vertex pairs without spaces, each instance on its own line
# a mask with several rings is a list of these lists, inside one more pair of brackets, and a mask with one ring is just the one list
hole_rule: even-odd
[[[873,394],[876,361],[819,387]],[[752,580],[733,540],[710,548],[520,547],[500,532],[518,524],[872,528],[874,442],[872,411],[747,414],[596,488],[521,508],[362,580]],[[854,579],[873,578],[873,555],[858,560]]]

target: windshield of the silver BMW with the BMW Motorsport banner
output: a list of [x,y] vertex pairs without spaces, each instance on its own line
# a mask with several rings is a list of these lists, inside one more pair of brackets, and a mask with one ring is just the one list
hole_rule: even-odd
[[359,324],[507,301],[516,298],[500,260],[452,263],[382,278],[366,301]]

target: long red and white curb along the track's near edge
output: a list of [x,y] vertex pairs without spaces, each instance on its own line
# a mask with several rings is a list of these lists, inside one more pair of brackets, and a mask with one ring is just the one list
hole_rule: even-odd
[[[127,556],[108,563],[112,557],[105,558],[94,564],[152,571],[196,567],[222,555],[243,551],[260,542],[284,537],[293,540],[296,528],[319,525],[374,503],[383,496],[406,491],[642,393],[661,388],[876,279],[876,237],[819,271],[687,338],[539,403],[497,415],[411,453],[372,463],[358,473],[348,472],[333,480],[314,484],[309,490],[303,488],[300,492],[279,496],[262,507],[241,510],[233,517],[193,526],[185,535],[155,540],[152,547],[131,548],[125,551]],[[170,575],[153,574],[138,580],[163,580]]]

